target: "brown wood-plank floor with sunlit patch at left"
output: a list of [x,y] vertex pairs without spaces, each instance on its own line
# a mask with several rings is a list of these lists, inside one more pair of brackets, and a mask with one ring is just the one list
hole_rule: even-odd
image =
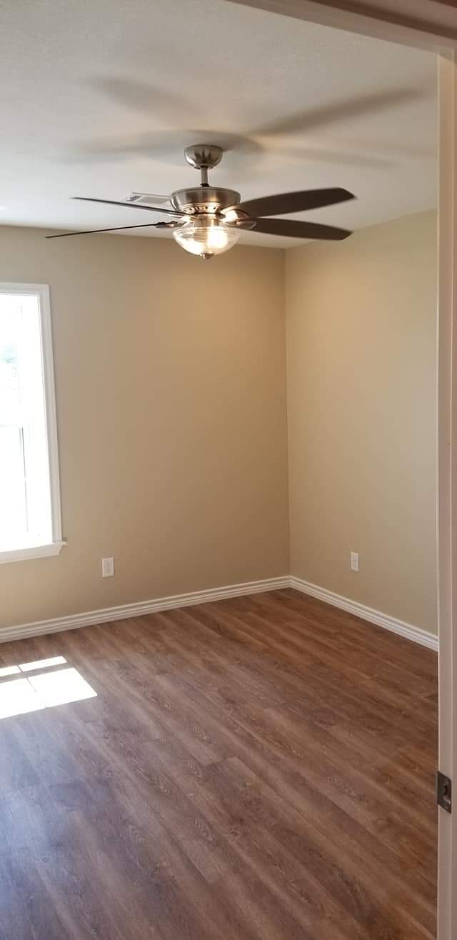
[[0,721],[1,940],[435,936],[433,652],[280,590],[1,645],[0,699],[63,668]]

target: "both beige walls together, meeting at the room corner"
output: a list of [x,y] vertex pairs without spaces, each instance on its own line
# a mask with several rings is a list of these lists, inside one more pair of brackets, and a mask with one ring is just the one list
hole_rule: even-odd
[[434,631],[435,242],[426,212],[204,264],[0,227],[0,280],[51,286],[68,540],[0,565],[0,624],[291,567]]

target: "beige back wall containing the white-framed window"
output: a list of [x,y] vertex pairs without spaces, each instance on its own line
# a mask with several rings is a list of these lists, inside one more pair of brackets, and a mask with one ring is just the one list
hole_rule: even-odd
[[1,280],[51,286],[68,546],[0,565],[0,624],[287,573],[284,253],[1,227]]

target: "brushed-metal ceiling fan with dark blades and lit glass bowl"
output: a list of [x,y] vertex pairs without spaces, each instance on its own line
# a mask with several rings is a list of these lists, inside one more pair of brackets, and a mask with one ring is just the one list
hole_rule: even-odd
[[[240,238],[244,229],[255,228],[267,235],[285,235],[288,238],[327,239],[339,241],[351,235],[345,228],[323,226],[299,219],[276,219],[270,216],[287,215],[332,206],[347,199],[352,193],[339,187],[333,189],[310,189],[297,193],[281,193],[262,196],[240,202],[241,196],[233,189],[211,186],[208,171],[222,160],[224,150],[215,144],[194,144],[186,147],[184,157],[188,164],[200,171],[199,186],[179,189],[171,196],[148,196],[134,193],[127,202],[112,199],[93,199],[75,196],[86,202],[102,202],[109,206],[127,206],[173,216],[171,221],[146,223],[144,226],[117,226],[94,228],[88,231],[64,232],[47,235],[46,238],[67,238],[70,235],[88,235],[92,232],[118,231],[126,228],[170,228],[181,248],[207,260],[228,251]],[[151,198],[169,203],[171,208],[147,205]],[[141,202],[141,200],[143,200]]]

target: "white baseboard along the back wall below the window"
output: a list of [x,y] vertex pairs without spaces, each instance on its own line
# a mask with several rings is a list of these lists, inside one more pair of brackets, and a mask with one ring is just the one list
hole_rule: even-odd
[[291,587],[291,577],[285,574],[278,578],[265,578],[263,581],[245,581],[240,585],[211,587],[209,590],[191,591],[190,594],[174,594],[171,597],[156,598],[155,601],[123,603],[118,607],[103,607],[102,610],[90,610],[86,614],[71,614],[69,617],[56,617],[52,620],[37,620],[35,623],[21,623],[12,627],[0,627],[0,643],[8,640],[21,640],[26,636],[55,634],[60,630],[75,630],[76,627],[89,627],[94,623],[106,623],[110,620],[123,620],[129,617],[142,617],[160,610],[172,610],[173,607],[189,607],[195,603],[222,601],[227,597],[242,597],[244,594],[258,594],[260,591],[277,590],[279,587]]

